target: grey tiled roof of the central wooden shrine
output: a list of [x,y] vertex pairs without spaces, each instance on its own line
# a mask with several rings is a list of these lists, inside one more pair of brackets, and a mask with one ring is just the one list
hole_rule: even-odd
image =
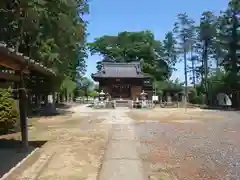
[[100,72],[92,74],[93,78],[118,77],[118,78],[144,78],[146,76],[140,68],[139,62],[132,63],[102,63]]

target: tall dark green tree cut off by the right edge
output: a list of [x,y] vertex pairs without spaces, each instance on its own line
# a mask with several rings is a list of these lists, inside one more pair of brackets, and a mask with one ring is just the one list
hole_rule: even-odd
[[223,60],[223,66],[227,71],[227,82],[233,90],[232,105],[239,107],[238,92],[240,89],[240,3],[237,0],[230,1],[228,8],[219,17],[219,39],[218,42],[223,45],[226,56]]

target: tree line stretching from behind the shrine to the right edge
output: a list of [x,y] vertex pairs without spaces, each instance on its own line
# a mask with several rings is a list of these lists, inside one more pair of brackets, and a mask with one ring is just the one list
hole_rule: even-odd
[[[239,1],[231,0],[220,15],[203,12],[199,24],[186,13],[178,14],[177,18],[173,30],[162,41],[156,40],[151,31],[120,32],[116,36],[96,38],[89,43],[89,49],[103,57],[97,68],[101,68],[103,61],[140,61],[143,72],[152,76],[158,92],[170,86],[181,87],[186,101],[196,102],[205,97],[208,104],[214,94],[225,92],[232,95],[233,107],[239,107]],[[184,62],[184,87],[169,80],[180,61]],[[177,84],[172,86],[174,83]],[[189,85],[193,86],[191,91]]]

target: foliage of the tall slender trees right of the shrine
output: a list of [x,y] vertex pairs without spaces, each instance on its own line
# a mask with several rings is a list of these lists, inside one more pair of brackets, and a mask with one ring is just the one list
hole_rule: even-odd
[[[189,89],[187,84],[190,70],[193,72],[190,80],[196,85],[197,92],[190,91],[190,101],[196,102],[196,97],[204,94],[209,103],[208,95],[226,92],[232,94],[233,107],[239,107],[239,12],[239,1],[231,0],[220,16],[210,11],[203,12],[197,25],[186,13],[178,15],[174,33],[177,37],[178,57],[182,54],[184,59],[185,90]],[[186,59],[192,63],[190,68],[187,68]],[[195,83],[197,79],[199,84]]]

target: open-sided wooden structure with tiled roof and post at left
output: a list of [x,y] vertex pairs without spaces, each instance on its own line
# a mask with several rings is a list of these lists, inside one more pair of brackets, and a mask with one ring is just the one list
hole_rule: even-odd
[[0,66],[2,67],[0,80],[13,81],[17,84],[22,142],[25,147],[28,147],[26,79],[31,78],[31,74],[42,74],[48,78],[56,74],[41,63],[8,48],[6,44],[2,43],[0,43]]

